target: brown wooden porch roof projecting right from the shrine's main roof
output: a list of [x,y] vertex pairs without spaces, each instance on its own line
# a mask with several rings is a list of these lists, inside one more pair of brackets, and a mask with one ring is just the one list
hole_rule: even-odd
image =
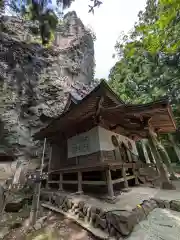
[[147,104],[101,108],[101,116],[111,122],[112,126],[119,125],[142,138],[147,137],[149,127],[158,133],[176,131],[172,108],[166,98]]

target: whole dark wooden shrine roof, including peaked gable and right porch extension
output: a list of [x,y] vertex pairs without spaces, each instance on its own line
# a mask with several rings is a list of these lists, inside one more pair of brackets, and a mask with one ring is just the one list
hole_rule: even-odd
[[[72,97],[69,95],[65,111],[47,127],[35,133],[34,139],[43,139],[56,135],[57,132],[65,132],[69,126],[76,127],[84,119],[95,116],[97,110],[100,111],[100,116],[109,121],[112,126],[119,125],[134,134],[141,132],[142,137],[147,135],[147,129],[143,126],[145,119],[148,119],[148,124],[161,133],[176,130],[171,106],[165,98],[148,104],[125,104],[105,81],[101,81],[81,100],[73,101],[74,104],[70,107]],[[102,103],[99,106],[101,100]]]

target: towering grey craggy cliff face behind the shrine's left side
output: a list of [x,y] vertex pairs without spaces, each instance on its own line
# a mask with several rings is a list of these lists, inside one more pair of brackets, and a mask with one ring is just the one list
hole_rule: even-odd
[[33,133],[62,113],[68,93],[82,98],[91,89],[93,38],[75,12],[49,48],[35,43],[29,22],[3,17],[0,25],[0,160],[39,159]]

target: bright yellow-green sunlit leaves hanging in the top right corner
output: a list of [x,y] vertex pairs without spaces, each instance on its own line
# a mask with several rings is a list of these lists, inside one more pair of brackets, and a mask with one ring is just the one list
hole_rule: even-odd
[[[176,53],[180,47],[180,1],[148,1],[156,17],[153,21],[142,23],[136,29],[143,37],[143,45],[151,53]],[[152,13],[152,12],[151,12]],[[143,18],[148,15],[143,14]]]

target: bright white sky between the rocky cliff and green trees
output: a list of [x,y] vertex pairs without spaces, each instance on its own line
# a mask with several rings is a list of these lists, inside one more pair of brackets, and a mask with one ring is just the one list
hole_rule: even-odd
[[[101,0],[103,4],[95,9],[95,14],[88,13],[90,0],[76,0],[70,9],[75,10],[86,26],[96,34],[95,61],[97,78],[107,78],[113,59],[114,45],[120,36],[132,29],[140,10],[144,10],[146,0]],[[113,4],[112,4],[113,2]]]

